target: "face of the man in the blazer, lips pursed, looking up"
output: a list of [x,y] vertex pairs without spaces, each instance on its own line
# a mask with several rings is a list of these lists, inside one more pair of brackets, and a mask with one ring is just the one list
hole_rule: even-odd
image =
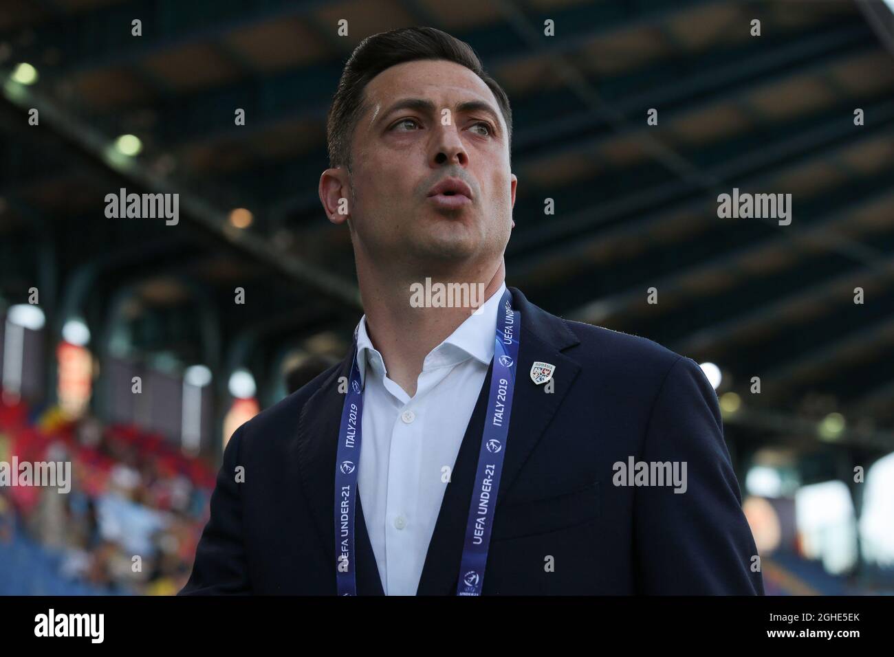
[[[460,64],[424,60],[379,73],[365,96],[350,171],[355,249],[433,274],[501,257],[517,180],[506,123],[485,82]],[[430,195],[451,177],[468,185],[470,200]]]

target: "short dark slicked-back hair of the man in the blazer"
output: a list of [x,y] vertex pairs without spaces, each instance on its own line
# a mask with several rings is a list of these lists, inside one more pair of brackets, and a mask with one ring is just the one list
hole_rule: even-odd
[[363,39],[345,63],[342,79],[326,117],[330,167],[345,165],[350,169],[350,143],[354,128],[363,114],[364,90],[369,80],[396,64],[420,59],[444,59],[459,63],[484,81],[500,105],[511,153],[512,110],[509,97],[485,72],[472,46],[440,29],[401,28]]

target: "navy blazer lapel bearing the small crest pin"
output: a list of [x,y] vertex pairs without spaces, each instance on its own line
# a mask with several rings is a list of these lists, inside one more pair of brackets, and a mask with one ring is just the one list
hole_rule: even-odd
[[[561,353],[562,350],[579,343],[577,336],[571,333],[559,317],[552,316],[531,304],[517,288],[509,289],[512,293],[512,306],[518,308],[521,313],[521,341],[509,437],[506,454],[503,457],[500,487],[497,491],[495,517],[499,517],[500,502],[510,490],[528,456],[540,442],[546,426],[549,425],[561,400],[580,371],[580,366],[575,360]],[[543,385],[536,385],[531,381],[530,370],[536,360],[543,360],[556,366],[552,393],[544,392]],[[444,491],[417,595],[456,594],[492,375],[493,361],[488,367],[485,382],[478,393],[475,410],[460,444],[460,452],[451,472],[451,481]],[[485,585],[486,582],[485,570]]]

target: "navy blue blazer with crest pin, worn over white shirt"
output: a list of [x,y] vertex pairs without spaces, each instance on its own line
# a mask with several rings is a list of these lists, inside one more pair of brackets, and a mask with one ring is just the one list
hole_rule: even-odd
[[[482,593],[763,594],[717,396],[696,362],[510,291],[520,362]],[[555,366],[552,392],[528,375],[536,360]],[[232,435],[180,594],[336,594],[338,388],[349,370],[350,354]],[[492,370],[445,484],[419,595],[456,593]],[[630,485],[616,465],[630,459],[685,461],[686,492]],[[362,499],[356,523],[358,594],[381,595]]]

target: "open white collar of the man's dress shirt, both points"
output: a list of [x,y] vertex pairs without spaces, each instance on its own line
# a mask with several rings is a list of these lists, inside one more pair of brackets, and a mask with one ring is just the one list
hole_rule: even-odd
[[[493,358],[493,343],[496,340],[497,312],[500,299],[506,291],[506,282],[493,292],[482,304],[480,312],[469,315],[457,326],[441,344],[431,350],[422,366],[423,370],[435,367],[457,365],[468,358],[475,358],[489,365]],[[367,359],[377,378],[383,378],[388,371],[382,354],[373,346],[367,333],[367,316],[360,317],[357,325],[357,366],[360,370],[360,384],[366,383]]]

